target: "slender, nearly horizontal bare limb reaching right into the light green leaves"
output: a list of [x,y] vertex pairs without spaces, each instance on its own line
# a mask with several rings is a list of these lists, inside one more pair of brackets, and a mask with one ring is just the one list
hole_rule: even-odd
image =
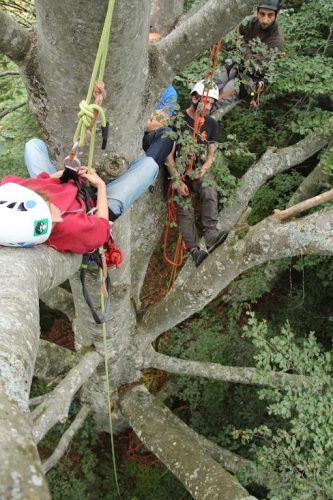
[[283,372],[267,372],[258,377],[257,370],[252,367],[224,366],[219,363],[203,361],[191,361],[172,356],[166,356],[156,352],[154,349],[146,350],[145,368],[157,368],[178,375],[190,375],[193,377],[204,377],[210,380],[220,380],[235,384],[255,385],[293,385],[302,386],[310,383],[309,377],[291,375]]

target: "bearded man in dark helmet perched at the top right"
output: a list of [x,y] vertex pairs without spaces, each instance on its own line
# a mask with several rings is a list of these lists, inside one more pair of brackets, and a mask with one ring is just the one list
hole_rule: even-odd
[[[252,60],[259,66],[262,66],[266,61],[267,56],[259,53],[254,53],[249,42],[260,40],[267,45],[269,49],[276,49],[279,53],[284,50],[284,36],[281,28],[278,25],[277,17],[281,9],[281,0],[263,0],[257,5],[257,13],[255,16],[250,16],[246,19],[245,24],[241,24],[237,30],[242,36],[243,59],[245,61]],[[219,88],[219,100],[215,111],[218,107],[225,107],[240,96],[240,82],[242,79],[241,68],[237,67],[231,59],[225,61],[224,66],[216,75],[216,84]],[[238,78],[240,76],[240,78]],[[263,78],[260,75],[260,80]],[[258,80],[257,75],[251,75],[249,85],[255,85]]]

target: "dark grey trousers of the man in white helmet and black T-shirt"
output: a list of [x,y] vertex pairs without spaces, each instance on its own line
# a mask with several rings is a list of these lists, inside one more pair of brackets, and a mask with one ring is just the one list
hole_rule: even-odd
[[[213,180],[213,175],[208,172],[201,179],[191,179],[190,189],[198,194],[201,206],[201,221],[205,239],[217,235],[218,221],[218,199],[216,189],[212,186],[204,186],[204,181]],[[179,195],[178,195],[179,196]],[[176,204],[177,218],[180,232],[185,241],[186,249],[192,250],[199,247],[199,236],[195,225],[195,214],[192,203],[186,204],[187,197],[182,196],[183,203]],[[183,205],[186,206],[184,207]]]

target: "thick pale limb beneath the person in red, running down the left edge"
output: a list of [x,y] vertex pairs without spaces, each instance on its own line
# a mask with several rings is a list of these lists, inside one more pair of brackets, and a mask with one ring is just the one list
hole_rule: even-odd
[[28,411],[38,343],[38,295],[79,265],[40,245],[0,249],[0,496],[49,498]]

